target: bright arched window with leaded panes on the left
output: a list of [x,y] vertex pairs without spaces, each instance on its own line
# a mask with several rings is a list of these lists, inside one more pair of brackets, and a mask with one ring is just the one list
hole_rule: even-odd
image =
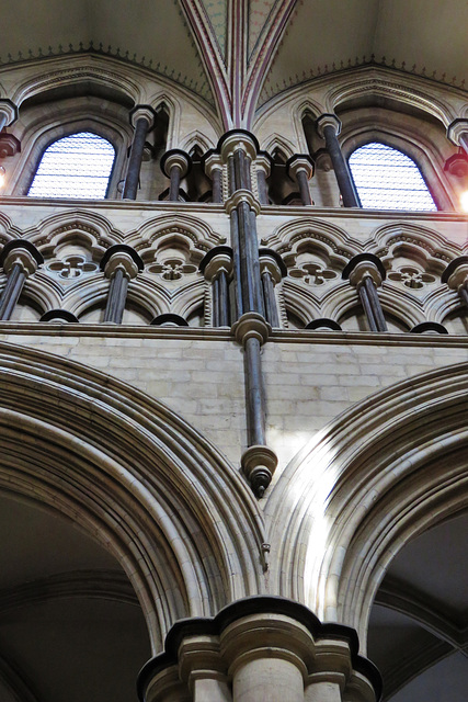
[[79,132],[66,136],[44,151],[27,194],[102,200],[114,158],[112,144],[96,134]]

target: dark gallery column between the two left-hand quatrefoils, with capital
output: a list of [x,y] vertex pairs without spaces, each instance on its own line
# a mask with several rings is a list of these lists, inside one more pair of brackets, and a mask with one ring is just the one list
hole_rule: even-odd
[[111,246],[101,260],[101,270],[111,280],[104,321],[122,324],[128,282],[145,268],[138,253],[125,244]]

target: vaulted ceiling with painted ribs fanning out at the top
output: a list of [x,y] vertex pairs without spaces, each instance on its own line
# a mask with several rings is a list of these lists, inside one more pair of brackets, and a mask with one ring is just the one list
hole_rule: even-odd
[[[46,9],[45,9],[46,8]],[[464,88],[465,0],[16,0],[2,64],[90,48],[149,67],[249,127],[278,92],[376,61]]]

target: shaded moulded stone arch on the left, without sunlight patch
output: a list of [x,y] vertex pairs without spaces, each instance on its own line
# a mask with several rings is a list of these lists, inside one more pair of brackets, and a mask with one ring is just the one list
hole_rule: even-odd
[[181,616],[259,591],[256,503],[171,410],[102,373],[0,344],[0,489],[48,505],[127,573],[155,650]]

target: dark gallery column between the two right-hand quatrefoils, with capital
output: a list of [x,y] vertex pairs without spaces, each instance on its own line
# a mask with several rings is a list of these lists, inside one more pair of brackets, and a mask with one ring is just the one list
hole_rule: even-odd
[[373,253],[358,253],[343,270],[343,279],[357,288],[370,331],[387,331],[384,312],[377,294],[386,278],[385,268]]

